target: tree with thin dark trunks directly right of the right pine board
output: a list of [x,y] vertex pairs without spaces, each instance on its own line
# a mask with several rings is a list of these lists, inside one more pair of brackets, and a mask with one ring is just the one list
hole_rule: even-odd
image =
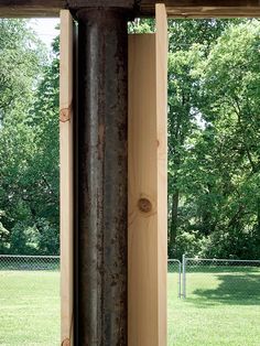
[[[199,130],[197,107],[199,78],[194,68],[203,62],[210,47],[234,20],[170,21],[169,58],[169,255],[175,251],[177,230],[186,224],[180,202],[185,198],[186,182],[182,166],[193,132]],[[187,210],[185,210],[186,213]],[[184,225],[183,225],[184,226]],[[186,225],[187,226],[187,225]],[[185,227],[186,227],[185,226]]]

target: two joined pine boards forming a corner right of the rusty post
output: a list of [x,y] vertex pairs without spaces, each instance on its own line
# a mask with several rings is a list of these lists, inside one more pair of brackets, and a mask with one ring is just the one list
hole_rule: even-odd
[[129,346],[166,346],[167,25],[129,37]]

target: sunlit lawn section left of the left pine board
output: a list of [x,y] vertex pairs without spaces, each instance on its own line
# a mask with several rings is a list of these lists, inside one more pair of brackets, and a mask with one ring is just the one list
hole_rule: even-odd
[[0,271],[0,345],[59,345],[57,271]]

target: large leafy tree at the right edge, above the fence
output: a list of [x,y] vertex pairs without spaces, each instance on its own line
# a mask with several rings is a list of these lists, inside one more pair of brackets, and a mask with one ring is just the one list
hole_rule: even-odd
[[197,69],[205,129],[193,154],[206,192],[194,197],[204,234],[225,239],[218,256],[259,256],[259,35],[257,20],[229,28]]

